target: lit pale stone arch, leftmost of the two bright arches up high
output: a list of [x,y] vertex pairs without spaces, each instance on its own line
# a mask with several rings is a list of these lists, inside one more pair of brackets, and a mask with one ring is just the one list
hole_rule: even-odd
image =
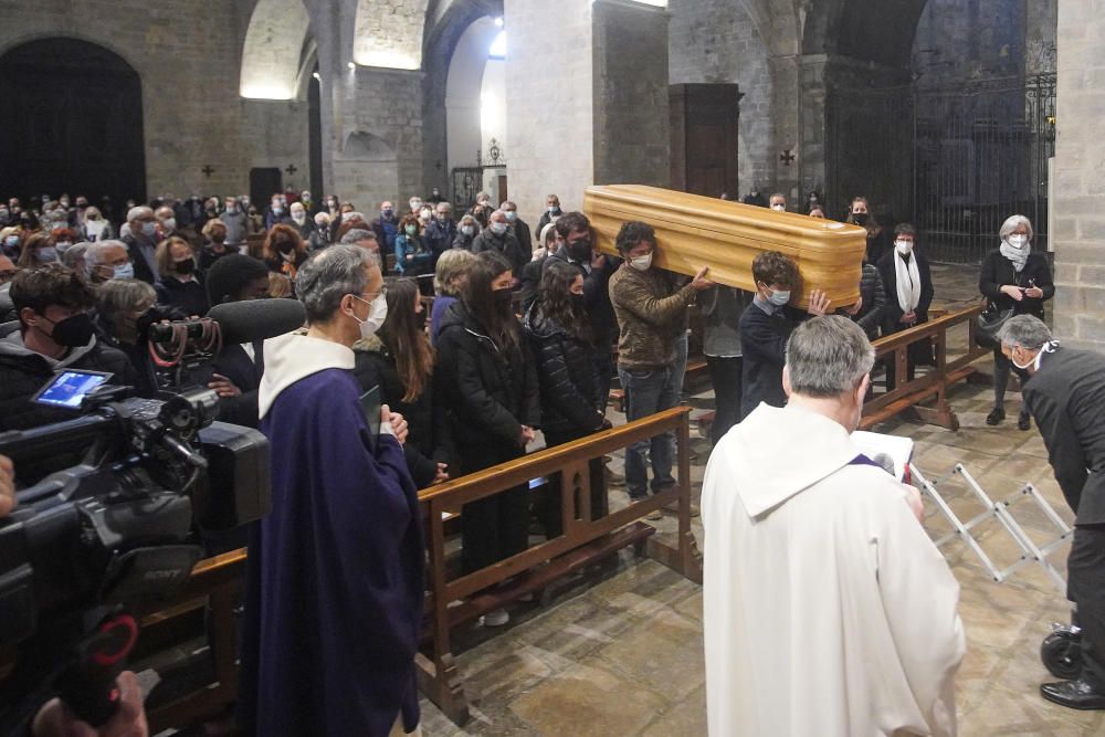
[[242,97],[294,99],[309,33],[311,17],[303,0],[259,0],[242,49]]

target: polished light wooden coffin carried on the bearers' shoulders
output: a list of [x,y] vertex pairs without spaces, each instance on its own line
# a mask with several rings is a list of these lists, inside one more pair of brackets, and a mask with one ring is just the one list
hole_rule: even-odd
[[804,307],[811,289],[823,289],[833,308],[860,298],[866,233],[857,225],[640,185],[589,187],[583,213],[604,253],[618,255],[618,230],[640,220],[656,231],[653,263],[661,269],[693,276],[709,266],[711,280],[755,292],[753,260],[779,251],[802,275],[791,304]]

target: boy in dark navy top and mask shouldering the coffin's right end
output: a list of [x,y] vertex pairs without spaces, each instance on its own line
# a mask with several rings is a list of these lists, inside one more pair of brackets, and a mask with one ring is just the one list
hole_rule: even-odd
[[[740,315],[741,367],[740,418],[760,402],[783,407],[782,367],[787,362],[787,340],[808,315],[790,307],[791,292],[801,284],[798,264],[778,251],[765,251],[753,261],[756,296]],[[830,301],[824,292],[810,293],[809,315],[822,316]]]

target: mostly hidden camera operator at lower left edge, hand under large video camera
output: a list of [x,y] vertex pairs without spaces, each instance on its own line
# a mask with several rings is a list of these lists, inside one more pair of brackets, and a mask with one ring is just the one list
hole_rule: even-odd
[[[7,517],[15,508],[15,473],[11,459],[0,455],[0,518]],[[141,687],[130,671],[119,674],[119,707],[106,725],[93,729],[76,719],[57,698],[48,702],[31,726],[34,737],[145,737],[149,734],[146,725],[146,709],[143,706]]]

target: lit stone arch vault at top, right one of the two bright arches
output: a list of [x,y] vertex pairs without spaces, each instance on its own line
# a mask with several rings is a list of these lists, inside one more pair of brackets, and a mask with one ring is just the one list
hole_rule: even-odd
[[417,70],[428,0],[357,0],[352,60],[362,66]]

